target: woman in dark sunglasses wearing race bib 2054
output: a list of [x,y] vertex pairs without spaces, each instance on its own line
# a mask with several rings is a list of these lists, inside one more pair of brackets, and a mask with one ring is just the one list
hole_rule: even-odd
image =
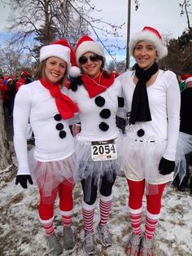
[[112,187],[120,171],[120,131],[116,113],[123,107],[120,83],[104,68],[103,48],[85,35],[76,43],[76,62],[82,76],[70,84],[70,97],[79,108],[81,132],[76,135],[76,160],[83,189],[84,250],[96,254],[94,210],[100,192],[98,234],[102,244],[112,244],[107,226],[111,211]]

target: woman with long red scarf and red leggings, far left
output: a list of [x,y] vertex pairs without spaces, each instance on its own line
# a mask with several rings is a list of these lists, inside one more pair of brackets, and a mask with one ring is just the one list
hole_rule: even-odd
[[[72,249],[75,245],[71,225],[72,190],[77,170],[68,119],[78,112],[78,108],[68,95],[61,92],[68,73],[76,73],[77,67],[72,67],[70,54],[70,47],[64,39],[60,44],[41,47],[41,64],[34,75],[35,81],[20,86],[15,95],[13,113],[14,146],[19,163],[15,183],[20,183],[23,188],[28,188],[28,183],[37,183],[39,219],[53,255],[63,252],[53,226],[57,194],[63,219],[63,247]],[[34,151],[29,157],[26,143],[28,120],[35,137]]]

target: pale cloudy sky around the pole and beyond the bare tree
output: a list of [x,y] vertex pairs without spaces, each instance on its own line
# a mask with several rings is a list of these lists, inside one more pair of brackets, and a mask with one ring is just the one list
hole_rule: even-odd
[[[126,46],[127,42],[127,16],[128,0],[94,0],[95,7],[99,10],[94,13],[95,17],[102,18],[113,24],[124,24],[120,29],[122,36],[118,43],[120,46]],[[144,26],[151,26],[159,30],[159,33],[168,34],[169,38],[177,38],[187,28],[185,15],[180,15],[181,8],[179,3],[182,0],[139,0],[139,8],[135,11],[135,4],[132,0],[130,38],[134,33],[142,30]],[[0,43],[4,38],[7,39],[5,26],[10,10],[0,2]],[[192,20],[192,6],[189,8],[190,20]],[[191,21],[192,22],[192,21]],[[118,60],[124,60],[125,51],[116,52]],[[107,56],[107,60],[108,56]]]

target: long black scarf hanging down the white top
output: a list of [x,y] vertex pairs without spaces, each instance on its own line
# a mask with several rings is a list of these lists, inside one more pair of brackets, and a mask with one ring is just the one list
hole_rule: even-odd
[[151,112],[149,107],[148,95],[146,91],[146,82],[150,80],[152,75],[158,71],[158,64],[154,63],[146,70],[135,65],[137,85],[133,92],[133,101],[131,106],[131,116],[129,122],[135,124],[135,121],[151,121]]

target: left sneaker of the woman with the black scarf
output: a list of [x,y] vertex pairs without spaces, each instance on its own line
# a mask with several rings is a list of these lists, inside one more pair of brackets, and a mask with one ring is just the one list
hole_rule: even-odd
[[126,248],[126,254],[128,256],[138,256],[140,255],[140,245],[142,241],[142,236],[141,235],[136,235],[132,233],[131,238],[129,240],[129,244]]

